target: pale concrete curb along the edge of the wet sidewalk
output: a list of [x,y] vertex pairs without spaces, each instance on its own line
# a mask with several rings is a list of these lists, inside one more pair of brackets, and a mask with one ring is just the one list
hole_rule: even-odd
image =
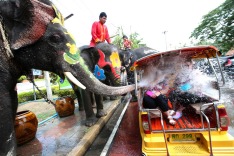
[[68,153],[68,156],[81,156],[84,155],[87,149],[95,140],[96,136],[101,131],[102,127],[107,123],[110,117],[113,115],[116,107],[121,103],[121,99],[110,101],[112,104],[107,110],[109,112],[107,116],[101,117],[95,125],[89,128],[89,131],[84,135],[80,142]]

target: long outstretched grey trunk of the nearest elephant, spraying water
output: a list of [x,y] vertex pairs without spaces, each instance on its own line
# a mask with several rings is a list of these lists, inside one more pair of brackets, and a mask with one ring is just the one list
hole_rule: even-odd
[[81,65],[73,66],[72,74],[91,92],[101,95],[123,95],[135,89],[135,85],[111,87],[101,83],[94,75]]

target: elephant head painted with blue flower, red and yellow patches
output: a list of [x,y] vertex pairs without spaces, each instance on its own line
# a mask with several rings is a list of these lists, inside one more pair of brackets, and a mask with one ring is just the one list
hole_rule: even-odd
[[94,76],[105,84],[119,86],[121,61],[118,48],[107,43],[80,47],[81,56]]

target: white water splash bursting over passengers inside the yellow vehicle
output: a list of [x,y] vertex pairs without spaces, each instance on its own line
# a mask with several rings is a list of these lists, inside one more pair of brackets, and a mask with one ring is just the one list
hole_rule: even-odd
[[139,86],[152,89],[161,82],[180,92],[189,92],[199,97],[219,99],[214,77],[196,67],[194,61],[181,56],[167,56],[144,68]]

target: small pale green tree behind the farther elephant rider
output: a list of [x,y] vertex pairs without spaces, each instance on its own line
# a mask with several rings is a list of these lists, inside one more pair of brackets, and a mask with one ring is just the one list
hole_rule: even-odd
[[[121,47],[123,47],[123,35],[124,35],[123,28],[119,27],[117,29],[116,34],[117,35],[115,36],[112,43],[121,48]],[[140,38],[140,35],[138,33],[136,33],[136,32],[130,34],[128,38],[133,43],[132,49],[136,49],[136,48],[139,48],[139,47],[142,47],[142,46],[146,46],[146,44],[141,43],[143,41],[143,39]]]

